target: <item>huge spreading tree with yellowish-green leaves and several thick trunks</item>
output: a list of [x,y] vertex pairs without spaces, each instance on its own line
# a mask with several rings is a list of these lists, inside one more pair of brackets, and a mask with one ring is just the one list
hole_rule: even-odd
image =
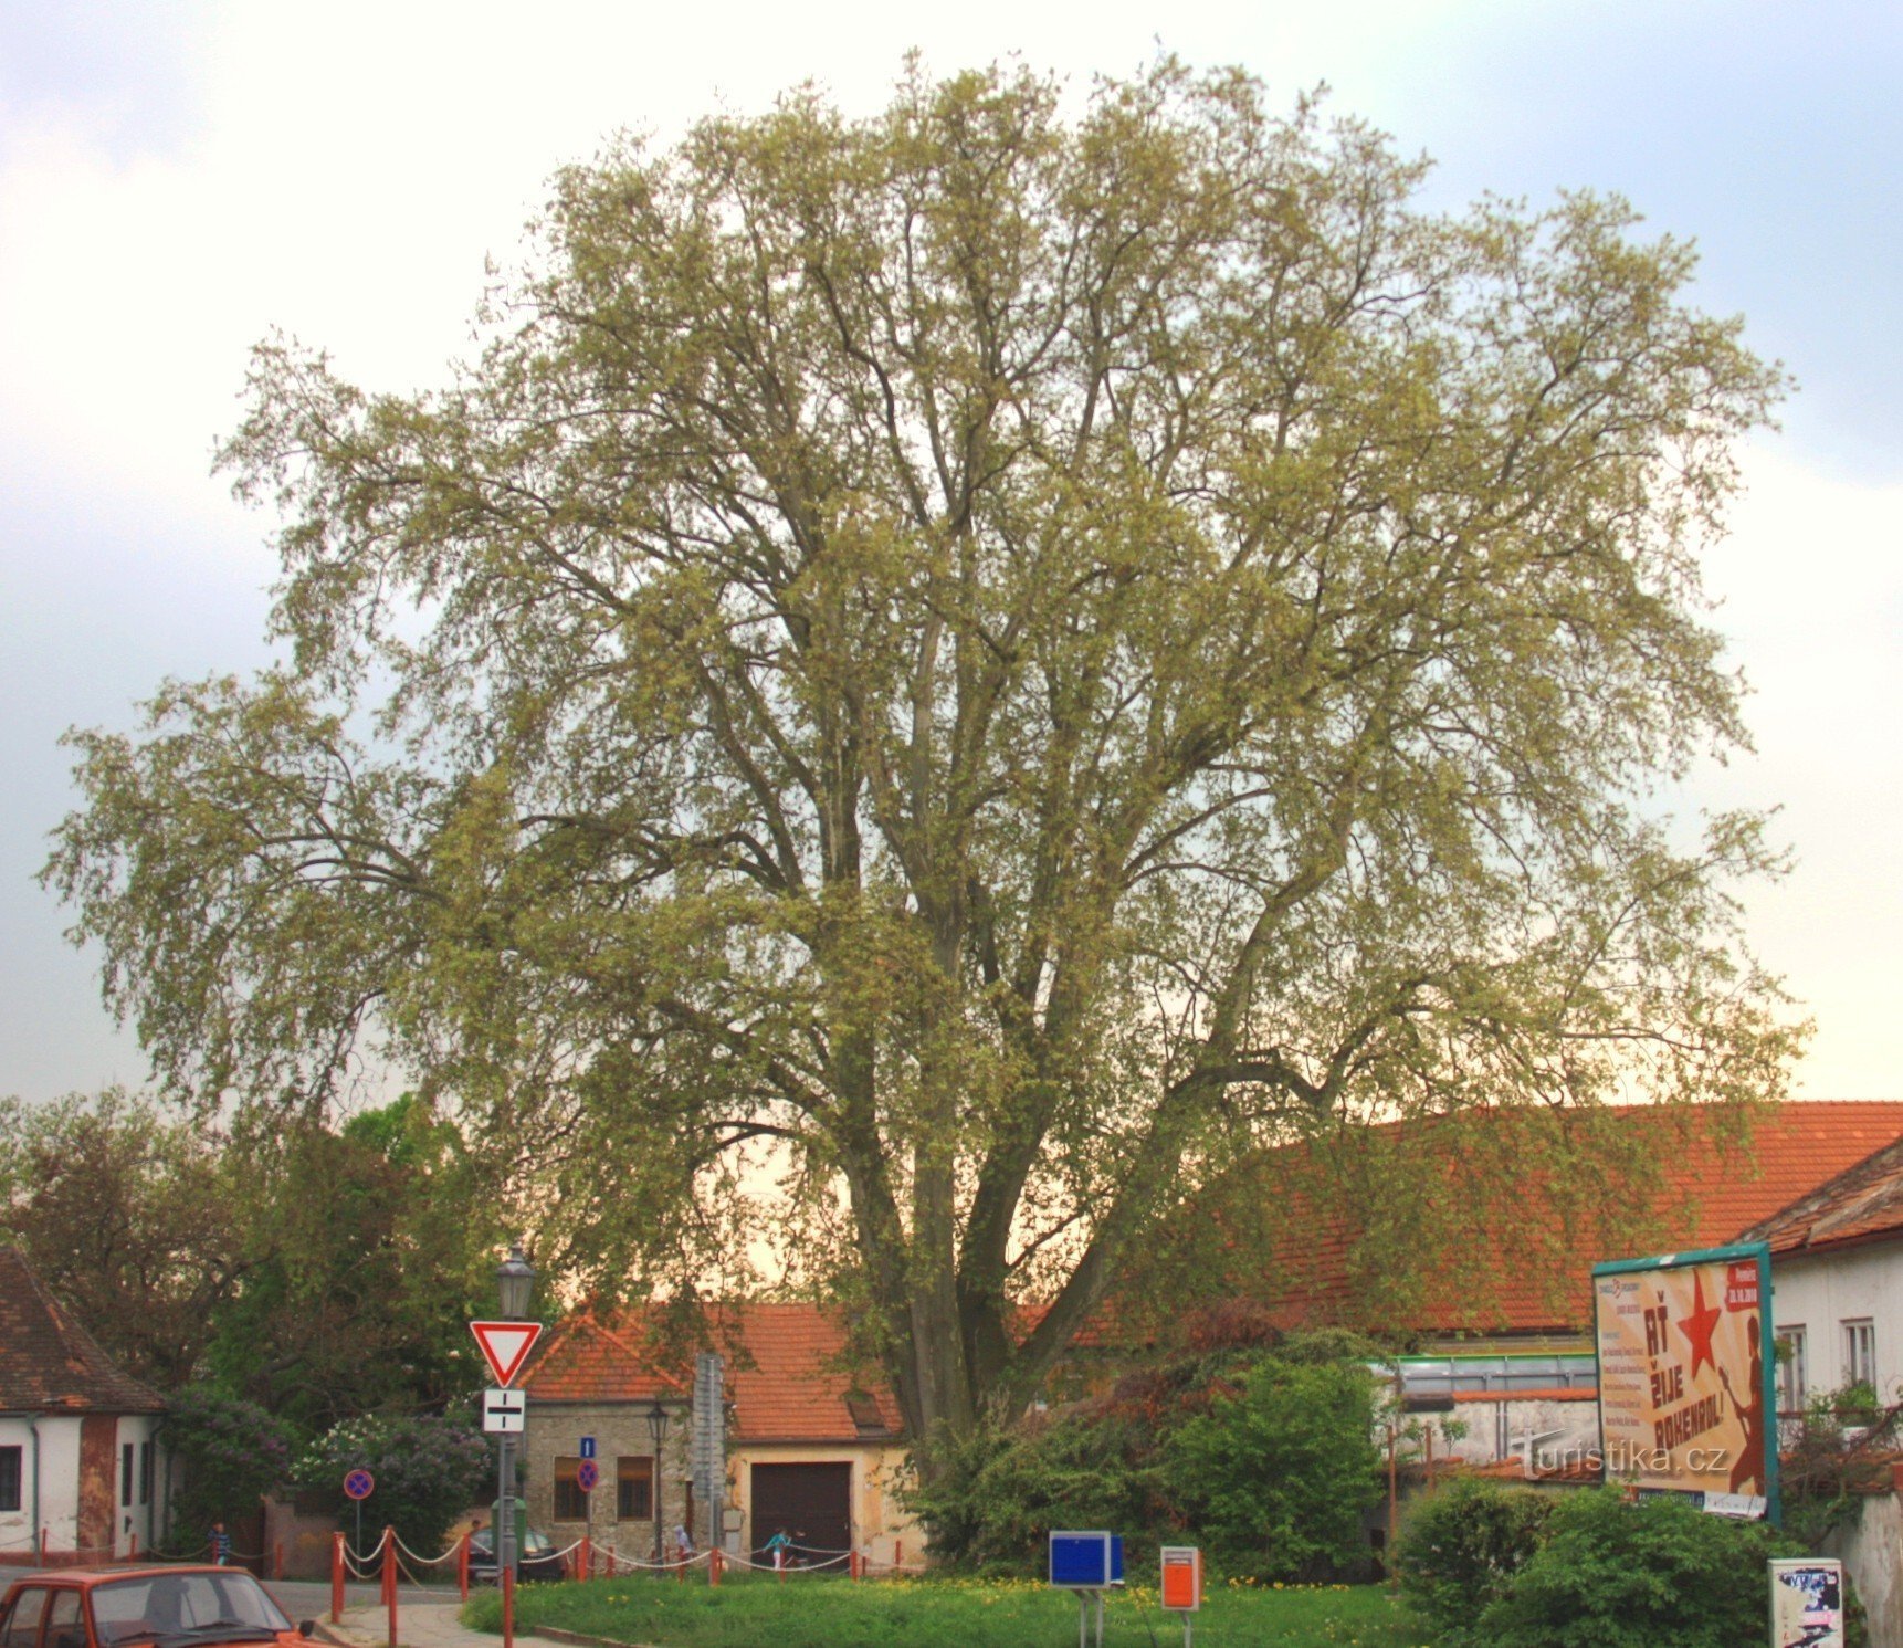
[[284,664],[76,735],[48,866],[173,1090],[373,1037],[565,1273],[795,1231],[919,1435],[1239,1148],[1793,1043],[1758,820],[1652,807],[1743,740],[1699,554],[1781,390],[1688,247],[1241,72],[1064,105],[622,139],[440,392],[263,346]]

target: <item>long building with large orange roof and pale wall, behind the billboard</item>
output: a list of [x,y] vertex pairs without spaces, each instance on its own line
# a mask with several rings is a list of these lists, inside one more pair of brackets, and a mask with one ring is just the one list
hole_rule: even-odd
[[[1501,1109],[1370,1128],[1338,1153],[1271,1151],[1254,1197],[1262,1224],[1227,1239],[1231,1285],[1283,1328],[1353,1326],[1410,1344],[1404,1397],[1446,1410],[1422,1416],[1437,1452],[1564,1467],[1599,1439],[1595,1264],[1737,1241],[1873,1151],[1903,1176],[1903,1102],[1791,1100],[1751,1115],[1614,1108],[1585,1125],[1608,1128],[1612,1161],[1629,1170],[1593,1184],[1543,1167],[1541,1142],[1568,1125],[1566,1113]],[[1414,1201],[1389,1189],[1387,1151],[1408,1151],[1414,1167],[1433,1157],[1437,1174],[1410,1176]],[[1382,1269],[1395,1227],[1412,1246],[1406,1277]],[[1774,1269],[1781,1324],[1785,1269]],[[1903,1353],[1903,1319],[1893,1340]]]

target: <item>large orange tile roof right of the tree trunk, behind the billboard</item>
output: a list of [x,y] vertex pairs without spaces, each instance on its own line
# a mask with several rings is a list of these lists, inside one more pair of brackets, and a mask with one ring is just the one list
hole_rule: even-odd
[[[1637,1250],[1627,1231],[1602,1208],[1574,1207],[1543,1184],[1536,1151],[1513,1159],[1515,1138],[1545,1117],[1501,1109],[1486,1117],[1488,1136],[1435,1123],[1401,1123],[1368,1130],[1374,1151],[1429,1149],[1442,1157],[1446,1180],[1425,1210],[1391,1210],[1383,1203],[1380,1157],[1374,1168],[1355,1159],[1359,1186],[1334,1195],[1317,1178],[1305,1148],[1269,1151],[1260,1163],[1262,1201],[1286,1216],[1264,1243],[1264,1277],[1256,1292],[1283,1326],[1351,1324],[1418,1332],[1572,1332],[1591,1321],[1593,1264],[1642,1252],[1718,1246],[1806,1191],[1863,1161],[1873,1149],[1903,1136],[1903,1102],[1791,1100],[1758,1111],[1749,1138],[1732,1132],[1736,1117],[1703,1106],[1625,1106],[1610,1113],[1625,1146],[1656,1167],[1656,1184],[1637,1205],[1646,1245]],[[1444,1142],[1444,1144],[1442,1144]],[[1536,1138],[1524,1140],[1536,1146]],[[1452,1148],[1446,1148],[1452,1146]],[[1903,1163],[1899,1163],[1903,1174]],[[1625,1186],[1606,1187],[1606,1201]],[[1349,1210],[1342,1210],[1344,1203]],[[1304,1214],[1302,1208],[1323,1208]],[[1899,1191],[1903,1207],[1903,1191]],[[1420,1229],[1404,1222],[1418,1216]],[[1387,1246],[1366,1243],[1368,1227],[1401,1220],[1385,1231]],[[1608,1231],[1612,1231],[1608,1235]],[[1370,1305],[1380,1298],[1380,1254],[1416,1241],[1431,1258],[1425,1281],[1404,1305]],[[1231,1256],[1260,1252],[1231,1243]],[[1374,1258],[1370,1258],[1370,1254]],[[1246,1288],[1246,1279],[1237,1279]],[[1385,1311],[1385,1313],[1383,1313]],[[1397,1319],[1395,1311],[1404,1311]]]

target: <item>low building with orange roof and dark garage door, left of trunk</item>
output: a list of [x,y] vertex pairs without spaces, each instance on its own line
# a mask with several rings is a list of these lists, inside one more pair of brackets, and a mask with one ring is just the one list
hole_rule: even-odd
[[[725,1361],[723,1484],[693,1494],[695,1353]],[[558,1323],[520,1380],[529,1401],[529,1520],[559,1545],[582,1534],[649,1559],[679,1522],[696,1547],[719,1540],[750,1560],[780,1528],[809,1562],[862,1551],[894,1562],[921,1534],[893,1496],[904,1469],[898,1404],[856,1368],[835,1311],[809,1304],[710,1305],[695,1332],[660,1311],[579,1311]],[[655,1444],[649,1416],[666,1416]],[[582,1437],[598,1486],[580,1490]],[[657,1503],[658,1500],[658,1503]],[[657,1522],[658,1509],[658,1522]]]

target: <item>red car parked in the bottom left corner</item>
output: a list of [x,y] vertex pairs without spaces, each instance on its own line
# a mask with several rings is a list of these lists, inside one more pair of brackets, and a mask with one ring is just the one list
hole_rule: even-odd
[[306,1648],[244,1568],[49,1568],[8,1585],[0,1648]]

